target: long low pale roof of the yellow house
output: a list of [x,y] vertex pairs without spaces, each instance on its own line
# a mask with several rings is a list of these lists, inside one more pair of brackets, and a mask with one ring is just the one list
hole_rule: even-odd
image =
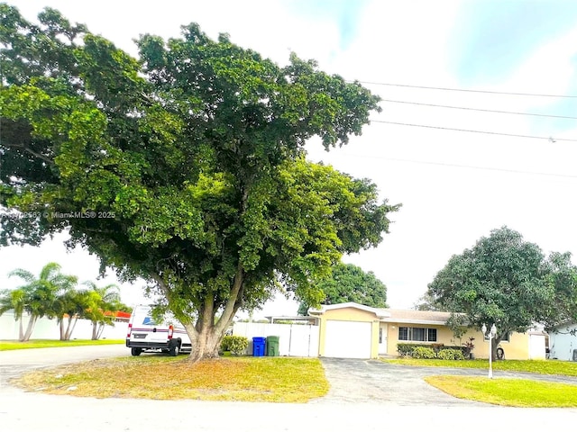
[[362,311],[373,312],[383,322],[406,322],[410,324],[439,324],[443,325],[449,317],[451,312],[437,312],[437,311],[414,311],[402,309],[381,309],[371,308],[355,302],[324,304],[320,309],[311,309],[308,311],[310,315],[322,315],[325,311],[332,311],[335,309],[354,308]]

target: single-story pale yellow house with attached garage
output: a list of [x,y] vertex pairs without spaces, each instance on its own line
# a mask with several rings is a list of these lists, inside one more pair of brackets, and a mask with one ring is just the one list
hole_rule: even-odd
[[[355,302],[323,305],[309,310],[319,319],[318,355],[343,358],[396,356],[398,343],[443,344],[462,347],[474,338],[472,353],[489,357],[489,343],[480,331],[467,331],[455,338],[445,323],[449,312],[379,309]],[[490,323],[488,323],[490,324]],[[545,333],[512,333],[500,347],[505,358],[545,358]]]

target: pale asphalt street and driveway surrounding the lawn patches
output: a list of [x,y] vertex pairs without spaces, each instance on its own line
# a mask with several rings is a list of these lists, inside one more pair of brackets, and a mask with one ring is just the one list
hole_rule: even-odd
[[[0,431],[115,432],[169,428],[356,432],[402,428],[428,432],[514,427],[525,432],[550,428],[574,430],[577,424],[577,410],[514,409],[460,401],[423,382],[423,377],[429,374],[483,374],[483,371],[415,368],[378,361],[323,359],[331,390],[325,398],[307,404],[79,398],[23,392],[8,383],[10,377],[39,367],[128,355],[128,348],[122,346],[0,352]],[[496,374],[496,378],[499,376]]]

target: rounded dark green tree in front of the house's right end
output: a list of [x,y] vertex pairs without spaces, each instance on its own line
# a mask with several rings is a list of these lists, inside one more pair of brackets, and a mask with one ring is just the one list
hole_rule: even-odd
[[481,329],[483,324],[490,328],[494,323],[495,357],[508,333],[575,314],[574,300],[559,307],[563,299],[577,294],[575,281],[569,254],[547,258],[535,243],[502,227],[451,257],[428,285],[426,297],[435,308],[453,312],[449,323],[454,329]]

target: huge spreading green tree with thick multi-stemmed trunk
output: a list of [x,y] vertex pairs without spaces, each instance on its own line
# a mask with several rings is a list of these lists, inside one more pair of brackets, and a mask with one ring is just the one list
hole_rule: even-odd
[[132,58],[50,8],[38,25],[6,4],[0,17],[0,242],[68,229],[103,271],[151,283],[192,360],[279,284],[316,304],[316,278],[388,231],[397,206],[375,184],[305,159],[307,139],[342,146],[379,110],[359,83],[194,23],[143,35]]

